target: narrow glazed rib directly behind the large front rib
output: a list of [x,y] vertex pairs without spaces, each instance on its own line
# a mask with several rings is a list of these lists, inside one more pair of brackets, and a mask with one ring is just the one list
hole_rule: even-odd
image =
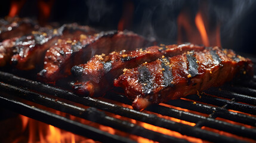
[[150,46],[127,52],[111,52],[109,55],[95,55],[87,64],[72,68],[72,73],[79,76],[79,81],[73,85],[76,94],[103,96],[113,87],[113,81],[120,76],[125,68],[134,68],[145,61],[155,61],[162,55],[172,57],[186,51],[202,51],[203,46],[193,44]]

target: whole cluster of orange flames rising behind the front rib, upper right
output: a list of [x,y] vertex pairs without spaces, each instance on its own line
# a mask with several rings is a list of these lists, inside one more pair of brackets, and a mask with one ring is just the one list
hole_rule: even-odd
[[[177,43],[192,42],[205,46],[221,46],[220,23],[210,25],[205,16],[206,6],[201,5],[193,21],[190,11],[182,10],[177,17]],[[211,28],[209,28],[211,27]]]

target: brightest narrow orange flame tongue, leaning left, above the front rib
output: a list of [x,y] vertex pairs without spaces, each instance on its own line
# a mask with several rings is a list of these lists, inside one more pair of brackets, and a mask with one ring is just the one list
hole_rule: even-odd
[[198,27],[198,30],[201,34],[203,45],[209,46],[209,39],[206,33],[205,24],[203,24],[203,18],[200,12],[196,14],[195,23],[196,23],[196,27]]

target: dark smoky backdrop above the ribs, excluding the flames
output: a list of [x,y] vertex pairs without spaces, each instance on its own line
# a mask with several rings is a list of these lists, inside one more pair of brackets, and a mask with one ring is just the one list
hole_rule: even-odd
[[[186,11],[193,23],[195,15],[202,10],[208,21],[206,31],[213,31],[220,25],[223,48],[256,54],[256,1],[55,0],[47,18],[41,16],[39,2],[25,1],[18,16],[35,18],[41,23],[77,22],[101,30],[128,29],[166,44],[177,43],[177,17],[181,11]],[[10,4],[11,1],[2,1],[0,17],[8,15]],[[121,27],[120,21],[123,22]],[[193,41],[183,38],[182,42]]]

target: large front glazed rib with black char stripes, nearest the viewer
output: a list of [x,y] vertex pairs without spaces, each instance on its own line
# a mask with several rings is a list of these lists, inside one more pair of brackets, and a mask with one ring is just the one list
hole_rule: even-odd
[[241,74],[252,75],[252,62],[232,50],[218,47],[162,57],[135,69],[125,69],[115,86],[121,86],[132,106],[143,110],[149,104],[196,94],[223,85]]

